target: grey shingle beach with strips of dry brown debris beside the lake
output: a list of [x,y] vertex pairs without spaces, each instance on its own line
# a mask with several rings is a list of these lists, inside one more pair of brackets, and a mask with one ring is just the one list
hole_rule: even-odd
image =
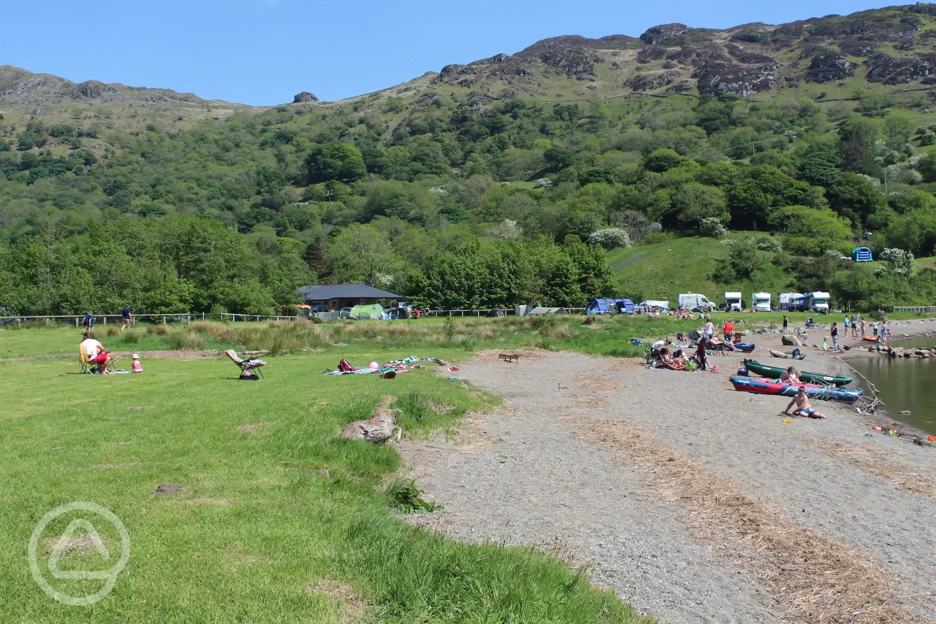
[[[936,619],[936,449],[867,435],[842,404],[818,406],[827,420],[783,416],[787,399],[732,388],[742,357],[713,358],[713,374],[479,354],[461,377],[505,405],[453,440],[400,444],[446,507],[412,519],[556,552],[663,622]],[[810,348],[797,366],[841,364]]]

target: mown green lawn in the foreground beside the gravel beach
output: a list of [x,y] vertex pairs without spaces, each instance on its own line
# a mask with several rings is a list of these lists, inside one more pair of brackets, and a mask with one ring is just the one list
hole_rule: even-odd
[[[22,352],[17,341],[33,332],[60,335],[28,329],[3,339]],[[409,355],[367,348],[358,357]],[[349,621],[328,591],[310,589],[329,578],[363,596],[368,619],[381,621],[633,621],[612,596],[533,549],[455,544],[388,514],[380,484],[400,458],[335,432],[388,392],[416,433],[450,427],[493,399],[433,370],[392,383],[316,374],[333,366],[336,351],[271,358],[260,383],[235,381],[225,360],[147,360],[142,375],[107,378],[65,374],[72,367],[63,358],[0,361],[17,388],[0,414],[0,611],[30,622]],[[460,353],[432,347],[427,355]],[[429,399],[455,410],[437,414]],[[269,425],[238,430],[257,421]],[[185,491],[154,495],[162,483]],[[38,518],[67,501],[110,509],[133,543],[116,587],[90,608],[52,602],[26,564]],[[117,548],[107,523],[95,526]],[[86,559],[73,553],[62,565],[94,569]]]

